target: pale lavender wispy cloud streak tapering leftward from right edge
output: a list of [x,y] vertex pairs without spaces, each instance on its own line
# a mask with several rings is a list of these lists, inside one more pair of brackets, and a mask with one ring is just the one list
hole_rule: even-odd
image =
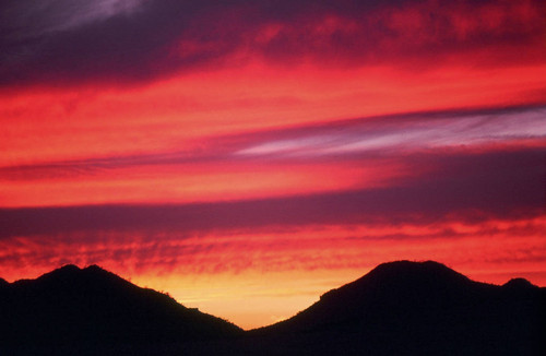
[[[546,138],[544,107],[393,115],[287,130],[242,147],[240,156],[401,154]],[[307,132],[306,132],[307,131]]]

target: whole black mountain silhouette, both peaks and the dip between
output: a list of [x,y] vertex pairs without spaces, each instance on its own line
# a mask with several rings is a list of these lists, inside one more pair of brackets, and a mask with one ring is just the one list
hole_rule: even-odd
[[0,354],[544,355],[546,288],[399,261],[276,324],[238,327],[96,265],[0,280]]

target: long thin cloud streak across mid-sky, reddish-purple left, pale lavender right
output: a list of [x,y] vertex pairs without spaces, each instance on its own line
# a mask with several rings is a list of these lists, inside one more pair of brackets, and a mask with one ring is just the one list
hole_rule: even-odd
[[423,150],[519,145],[546,138],[544,106],[395,114],[287,129],[201,138],[197,149],[0,167],[0,179],[92,175],[133,166],[189,166],[240,159],[405,155]]

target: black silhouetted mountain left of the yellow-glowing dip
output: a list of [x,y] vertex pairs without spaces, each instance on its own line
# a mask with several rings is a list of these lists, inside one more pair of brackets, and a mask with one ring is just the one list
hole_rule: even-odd
[[0,349],[181,343],[240,333],[232,323],[96,265],[66,265],[0,288]]

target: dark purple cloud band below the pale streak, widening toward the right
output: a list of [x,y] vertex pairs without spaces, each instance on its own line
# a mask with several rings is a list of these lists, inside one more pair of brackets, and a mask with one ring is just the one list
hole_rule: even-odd
[[546,151],[416,154],[428,174],[389,188],[182,205],[2,209],[0,237],[75,232],[252,229],[523,218],[546,209]]

